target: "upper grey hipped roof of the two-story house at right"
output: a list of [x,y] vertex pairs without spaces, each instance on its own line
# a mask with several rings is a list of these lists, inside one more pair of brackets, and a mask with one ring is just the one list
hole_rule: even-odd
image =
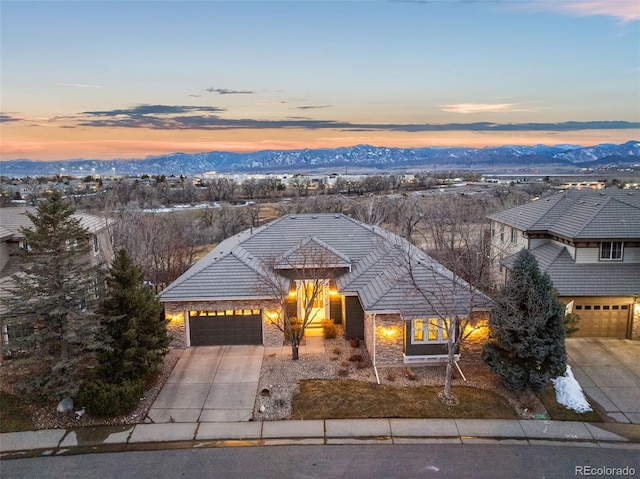
[[571,239],[640,238],[640,191],[570,190],[489,218],[523,231]]

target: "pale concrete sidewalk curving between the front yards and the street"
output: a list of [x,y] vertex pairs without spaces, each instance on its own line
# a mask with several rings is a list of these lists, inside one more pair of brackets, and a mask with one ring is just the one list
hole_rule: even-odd
[[[284,444],[553,444],[640,450],[640,425],[501,419],[164,423],[0,434],[0,458],[104,450]],[[179,443],[179,445],[176,445]]]

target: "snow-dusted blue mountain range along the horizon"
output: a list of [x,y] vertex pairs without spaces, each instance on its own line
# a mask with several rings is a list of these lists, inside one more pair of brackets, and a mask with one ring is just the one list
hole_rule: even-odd
[[526,168],[640,167],[640,142],[600,144],[498,146],[491,148],[426,147],[386,148],[357,145],[343,148],[264,150],[254,153],[172,153],[144,159],[64,161],[11,160],[0,162],[2,176],[46,176],[90,174],[133,176],[141,174],[195,175],[210,171],[237,173],[312,172],[355,170],[466,169],[496,172]]

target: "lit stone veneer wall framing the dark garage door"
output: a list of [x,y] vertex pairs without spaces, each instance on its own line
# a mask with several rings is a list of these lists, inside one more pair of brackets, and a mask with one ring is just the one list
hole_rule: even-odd
[[[167,330],[171,335],[171,347],[185,348],[187,345],[187,329],[185,318],[189,311],[222,311],[227,309],[261,309],[277,310],[279,303],[274,300],[241,300],[241,301],[174,301],[164,303],[165,317],[169,320]],[[265,346],[282,346],[282,332],[266,318],[263,313],[263,338]],[[182,339],[179,339],[181,337]],[[174,346],[175,345],[175,346]]]

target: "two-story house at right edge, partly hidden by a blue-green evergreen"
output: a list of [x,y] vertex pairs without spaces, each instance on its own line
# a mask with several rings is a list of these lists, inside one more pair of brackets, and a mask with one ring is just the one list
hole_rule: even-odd
[[489,219],[498,283],[529,249],[580,316],[574,336],[640,339],[640,191],[568,190]]

